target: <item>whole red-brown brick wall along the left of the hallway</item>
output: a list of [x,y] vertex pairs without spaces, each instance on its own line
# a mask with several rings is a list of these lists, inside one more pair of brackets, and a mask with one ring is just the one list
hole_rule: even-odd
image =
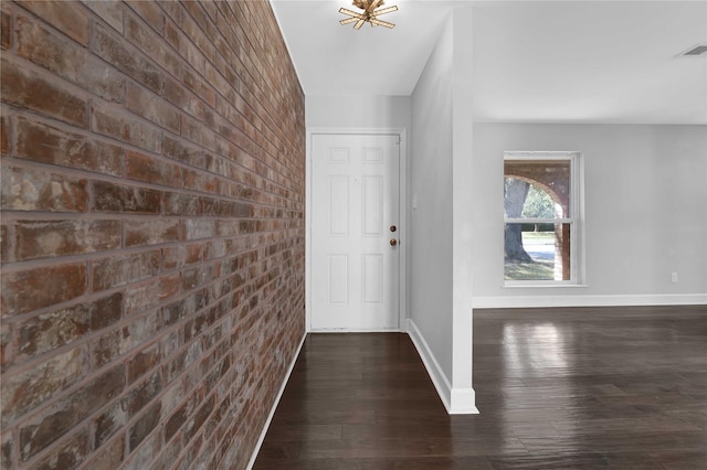
[[270,3],[0,10],[0,467],[244,468],[304,334]]

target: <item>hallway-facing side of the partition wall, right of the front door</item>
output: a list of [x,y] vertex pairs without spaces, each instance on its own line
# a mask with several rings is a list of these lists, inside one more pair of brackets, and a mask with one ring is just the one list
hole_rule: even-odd
[[[410,320],[451,391],[453,34],[444,28],[412,94]],[[413,331],[415,333],[415,331]],[[414,335],[413,335],[414,338]],[[425,354],[423,354],[424,357]],[[434,364],[436,362],[436,364]],[[434,377],[433,377],[434,378]],[[444,384],[436,384],[444,385]],[[439,388],[439,387],[437,387]],[[449,394],[450,392],[447,392]]]

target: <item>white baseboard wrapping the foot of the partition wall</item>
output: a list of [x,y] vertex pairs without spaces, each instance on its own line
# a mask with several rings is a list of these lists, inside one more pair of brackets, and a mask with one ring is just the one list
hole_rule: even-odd
[[477,414],[478,409],[476,409],[475,405],[476,396],[474,388],[452,387],[450,380],[444,371],[442,371],[428,342],[424,340],[415,322],[411,319],[408,319],[408,334],[418,350],[420,357],[422,357],[422,363],[428,370],[432,384],[434,384],[434,388],[437,391],[437,395],[440,395],[440,399],[444,408],[446,408],[446,412],[450,415]]

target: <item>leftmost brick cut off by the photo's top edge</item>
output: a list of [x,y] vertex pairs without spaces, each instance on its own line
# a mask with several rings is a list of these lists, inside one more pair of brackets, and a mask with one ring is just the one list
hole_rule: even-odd
[[82,4],[56,0],[24,0],[20,4],[74,41],[88,44],[88,15]]

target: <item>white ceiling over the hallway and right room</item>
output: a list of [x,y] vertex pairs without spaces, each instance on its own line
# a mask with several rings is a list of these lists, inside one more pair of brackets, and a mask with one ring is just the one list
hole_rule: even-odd
[[360,31],[350,0],[271,3],[306,95],[411,95],[471,6],[476,121],[707,124],[707,54],[677,56],[707,43],[707,0],[388,0],[397,26]]

